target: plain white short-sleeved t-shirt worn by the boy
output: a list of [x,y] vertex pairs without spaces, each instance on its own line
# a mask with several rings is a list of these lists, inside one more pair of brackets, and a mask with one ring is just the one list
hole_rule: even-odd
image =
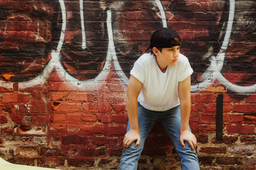
[[183,81],[193,73],[188,58],[179,54],[177,63],[168,66],[163,73],[157,65],[154,54],[144,53],[134,62],[131,75],[143,83],[138,101],[153,111],[166,111],[178,106],[179,81]]

